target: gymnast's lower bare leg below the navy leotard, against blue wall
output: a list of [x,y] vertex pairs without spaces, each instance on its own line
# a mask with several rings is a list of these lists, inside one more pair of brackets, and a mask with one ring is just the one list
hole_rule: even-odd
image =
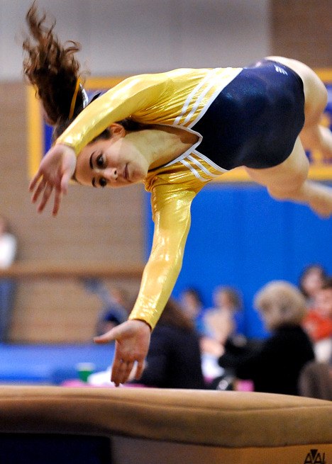
[[245,170],[251,179],[266,186],[273,198],[305,203],[321,217],[332,215],[332,188],[307,179],[309,161],[299,137],[283,163],[267,169]]

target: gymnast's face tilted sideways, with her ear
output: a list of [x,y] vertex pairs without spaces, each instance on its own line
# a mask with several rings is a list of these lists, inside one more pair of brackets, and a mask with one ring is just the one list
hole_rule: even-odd
[[93,187],[123,187],[143,181],[148,163],[119,124],[110,126],[112,136],[96,140],[77,157],[75,177],[79,183]]

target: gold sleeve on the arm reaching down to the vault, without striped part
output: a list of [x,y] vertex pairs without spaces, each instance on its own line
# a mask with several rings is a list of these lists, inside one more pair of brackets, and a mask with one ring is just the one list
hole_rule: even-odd
[[138,298],[129,315],[129,319],[147,322],[151,329],[155,328],[182,267],[195,195],[193,190],[175,190],[170,184],[157,186],[153,191],[153,246]]

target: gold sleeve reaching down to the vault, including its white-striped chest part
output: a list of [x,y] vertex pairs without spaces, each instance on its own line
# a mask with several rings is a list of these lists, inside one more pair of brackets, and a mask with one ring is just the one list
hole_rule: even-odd
[[138,299],[129,318],[142,319],[152,328],[170,298],[182,267],[192,200],[206,182],[221,174],[203,159],[199,162],[200,169],[196,161],[193,157],[188,163],[189,169],[187,166],[184,169],[181,161],[154,169],[145,179],[145,189],[151,192],[155,230]]

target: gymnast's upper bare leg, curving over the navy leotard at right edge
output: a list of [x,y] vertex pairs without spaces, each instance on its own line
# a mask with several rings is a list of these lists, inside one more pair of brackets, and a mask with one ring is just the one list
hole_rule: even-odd
[[332,159],[332,132],[321,125],[321,116],[327,103],[327,91],[317,74],[306,64],[284,57],[267,57],[293,69],[304,84],[305,123],[300,139],[306,149],[319,149],[325,159]]

